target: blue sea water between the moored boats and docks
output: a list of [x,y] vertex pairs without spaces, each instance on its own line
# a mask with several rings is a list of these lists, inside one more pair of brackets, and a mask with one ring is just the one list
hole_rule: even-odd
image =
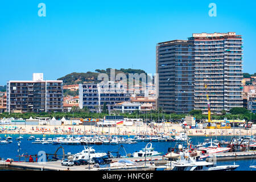
[[[19,135],[18,134],[0,134],[0,137],[2,139],[6,138],[5,137],[12,137],[13,139],[13,143],[9,143],[9,144],[0,144],[0,157],[7,159],[7,158],[12,158],[14,159],[14,161],[18,161],[19,160],[19,153],[18,153],[18,141],[15,140],[15,138],[18,138]],[[27,140],[28,137],[30,137],[30,135],[26,134],[26,135],[21,135],[23,137],[22,140],[20,140],[20,154],[26,154],[27,155],[35,155],[38,154],[39,151],[45,151],[47,154],[54,154],[56,149],[60,146],[60,145],[52,145],[52,144],[32,144],[33,140]],[[43,138],[43,135],[34,135],[35,138]],[[45,138],[55,138],[55,137],[65,137],[63,135],[46,135]],[[133,138],[132,136],[125,136],[126,138]],[[196,136],[191,136],[191,141],[192,144],[198,144],[199,142],[203,142],[204,139],[206,139],[208,137],[196,137]],[[216,137],[214,136],[213,139],[216,139]],[[230,140],[231,137],[217,137],[218,140],[221,139],[226,139],[226,140]],[[125,151],[127,154],[132,154],[135,151],[139,151],[142,148],[144,148],[146,146],[146,142],[138,142],[135,144],[122,144],[122,146],[125,148]],[[163,154],[166,154],[168,151],[168,147],[174,147],[175,146],[175,142],[152,142],[152,147],[155,148],[155,151],[158,152],[163,152]],[[64,151],[65,154],[67,154],[68,152],[71,152],[71,154],[75,154],[77,152],[81,152],[83,150],[83,146],[82,145],[77,145],[77,146],[71,146],[71,145],[62,145],[64,147]],[[93,145],[93,148],[97,151],[97,152],[117,152],[119,151],[119,153],[121,155],[125,155],[125,151],[123,150],[122,147],[120,147],[121,144],[119,145]],[[114,155],[113,152],[113,155]],[[62,150],[59,150],[57,152],[57,155],[62,155]],[[61,158],[61,157],[60,157]],[[23,158],[24,159],[24,158]],[[51,159],[51,158],[49,158]],[[246,160],[229,160],[229,161],[218,161],[217,164],[218,165],[225,165],[225,164],[234,164],[234,162],[236,164],[239,164],[240,166],[236,169],[237,171],[255,171],[255,169],[251,169],[249,166],[251,165],[256,165],[255,163],[255,159],[246,159]]]

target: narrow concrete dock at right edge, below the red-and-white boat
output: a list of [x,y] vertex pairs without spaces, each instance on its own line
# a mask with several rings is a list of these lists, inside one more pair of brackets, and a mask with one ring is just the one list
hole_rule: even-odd
[[217,154],[209,154],[207,161],[212,160],[241,160],[241,159],[256,159],[256,151],[251,152],[225,152]]

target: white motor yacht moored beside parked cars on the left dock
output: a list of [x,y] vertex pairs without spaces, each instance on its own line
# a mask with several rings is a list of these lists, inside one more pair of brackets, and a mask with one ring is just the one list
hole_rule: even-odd
[[73,160],[79,160],[79,159],[89,159],[89,153],[90,153],[90,159],[93,158],[108,158],[108,154],[105,152],[95,152],[95,150],[92,147],[85,147],[84,150],[81,152],[73,155]]

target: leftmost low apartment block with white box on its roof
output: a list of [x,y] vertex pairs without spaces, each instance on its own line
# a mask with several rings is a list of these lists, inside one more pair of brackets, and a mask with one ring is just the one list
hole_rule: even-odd
[[7,112],[63,111],[63,81],[43,80],[34,73],[32,81],[7,82]]

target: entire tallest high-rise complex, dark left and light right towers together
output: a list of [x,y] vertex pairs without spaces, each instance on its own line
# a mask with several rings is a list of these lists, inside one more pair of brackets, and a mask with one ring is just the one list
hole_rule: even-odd
[[188,40],[159,43],[157,107],[175,113],[192,109],[207,113],[206,94],[213,113],[242,107],[242,44],[235,32],[193,34]]

